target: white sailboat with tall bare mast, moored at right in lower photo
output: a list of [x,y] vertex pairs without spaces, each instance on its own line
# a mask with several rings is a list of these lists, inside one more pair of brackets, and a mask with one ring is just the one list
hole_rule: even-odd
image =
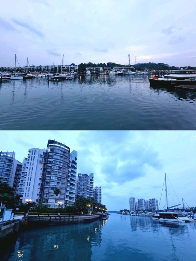
[[167,211],[159,212],[152,216],[153,220],[161,220],[161,221],[174,221],[174,222],[189,222],[190,219],[186,217],[185,212],[173,212],[169,211],[172,207],[179,206],[170,206],[168,207],[168,193],[167,193],[167,182],[166,182],[166,174],[165,174],[165,193],[166,193],[166,202],[167,202]]

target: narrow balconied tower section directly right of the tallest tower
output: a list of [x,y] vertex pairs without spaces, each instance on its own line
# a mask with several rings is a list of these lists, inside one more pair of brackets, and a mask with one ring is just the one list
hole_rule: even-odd
[[[70,153],[70,177],[68,178],[67,190],[69,190],[69,204],[75,202],[77,182],[77,151]],[[70,179],[70,180],[69,180]]]

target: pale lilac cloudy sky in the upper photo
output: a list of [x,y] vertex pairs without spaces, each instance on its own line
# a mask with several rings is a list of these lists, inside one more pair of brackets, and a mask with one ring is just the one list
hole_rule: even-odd
[[[9,6],[9,8],[8,8]],[[196,1],[1,2],[0,66],[163,62],[196,66]]]

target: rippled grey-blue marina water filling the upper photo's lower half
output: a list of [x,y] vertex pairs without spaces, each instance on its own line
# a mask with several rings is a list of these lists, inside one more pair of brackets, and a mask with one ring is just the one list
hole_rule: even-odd
[[149,76],[0,83],[2,130],[195,130],[196,93],[149,87]]

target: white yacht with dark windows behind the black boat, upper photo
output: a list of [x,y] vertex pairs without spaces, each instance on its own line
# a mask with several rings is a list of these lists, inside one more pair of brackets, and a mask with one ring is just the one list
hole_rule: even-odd
[[180,69],[180,70],[172,70],[171,74],[165,74],[164,78],[177,79],[177,80],[185,80],[192,77],[196,77],[196,70],[188,70],[188,69]]

